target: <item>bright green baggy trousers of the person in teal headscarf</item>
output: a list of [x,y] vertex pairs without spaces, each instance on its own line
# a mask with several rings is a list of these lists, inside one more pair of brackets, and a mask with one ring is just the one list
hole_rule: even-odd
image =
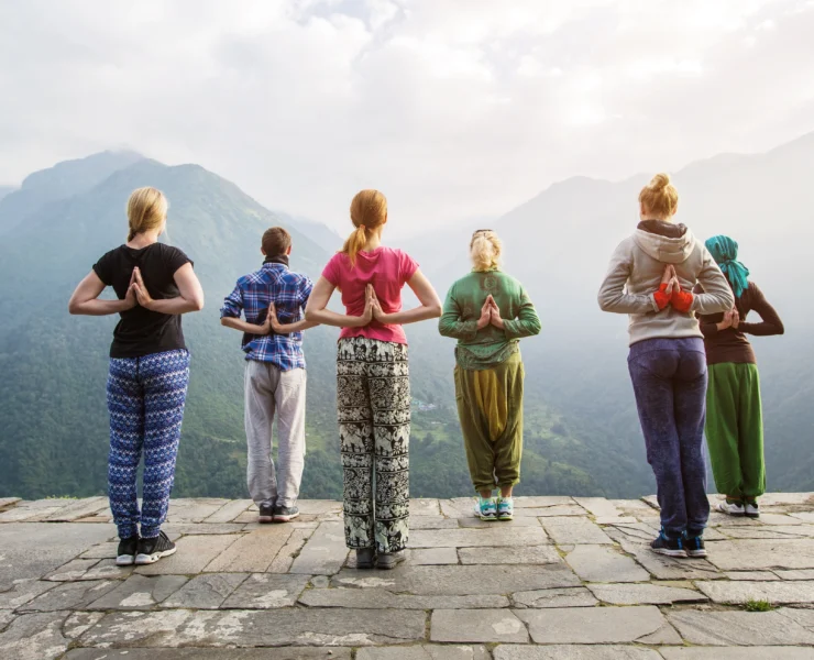
[[757,364],[710,365],[706,442],[718,493],[735,499],[755,499],[766,492]]

